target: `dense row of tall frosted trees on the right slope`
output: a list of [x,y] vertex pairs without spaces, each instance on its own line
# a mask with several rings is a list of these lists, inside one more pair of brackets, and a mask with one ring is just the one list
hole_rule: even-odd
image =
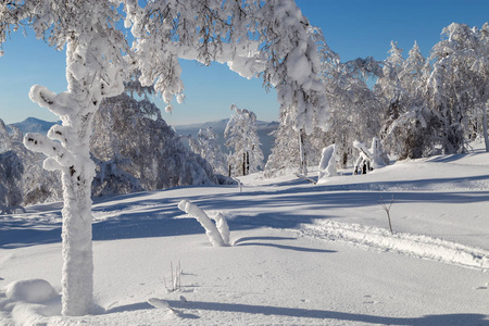
[[416,42],[404,58],[392,41],[384,61],[341,62],[318,32],[328,129],[306,134],[281,112],[265,175],[286,166],[300,170],[306,161],[315,165],[331,143],[340,165],[352,165],[358,155],[353,142],[374,137],[398,160],[465,153],[473,140],[485,141],[489,151],[489,25],[453,23],[441,35],[428,58]]

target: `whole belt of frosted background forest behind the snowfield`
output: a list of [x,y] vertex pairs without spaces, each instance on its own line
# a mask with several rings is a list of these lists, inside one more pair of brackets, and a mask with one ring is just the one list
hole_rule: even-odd
[[[186,137],[190,151],[149,100],[151,88],[126,83],[126,92],[104,100],[97,113],[91,138],[97,164],[92,196],[228,184],[233,181],[225,176],[259,171],[266,177],[303,172],[308,165],[317,165],[323,148],[331,143],[337,146],[339,166],[347,167],[359,156],[354,142],[368,143],[375,137],[398,160],[467,152],[474,140],[486,141],[487,147],[487,23],[480,28],[456,23],[443,28],[442,40],[428,58],[417,43],[403,55],[392,41],[384,61],[369,57],[341,62],[319,29],[314,38],[329,106],[327,130],[315,126],[308,135],[294,128],[290,115],[281,114],[272,135],[272,154],[263,162],[254,113],[236,108],[226,128],[229,153],[216,142],[224,135],[212,128]],[[45,156],[27,150],[22,139],[18,128],[1,123],[0,204],[5,211],[62,197],[57,172],[43,171]]]

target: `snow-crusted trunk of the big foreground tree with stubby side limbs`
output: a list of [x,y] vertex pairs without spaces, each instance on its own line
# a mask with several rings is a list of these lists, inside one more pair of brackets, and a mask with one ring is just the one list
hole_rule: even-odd
[[[29,92],[30,99],[57,114],[62,125],[54,125],[48,137],[27,134],[24,145],[48,156],[43,164],[46,170],[61,171],[64,198],[62,313],[85,315],[93,303],[90,187],[95,164],[90,160],[90,135],[100,102],[124,89],[121,54],[124,38],[106,23],[115,14],[109,2],[80,2],[65,10],[75,13],[77,24],[66,40],[67,91],[57,95],[36,85]],[[59,15],[66,14],[60,11]],[[48,22],[55,17],[49,10],[41,14],[39,20]],[[35,29],[43,23],[39,20]]]

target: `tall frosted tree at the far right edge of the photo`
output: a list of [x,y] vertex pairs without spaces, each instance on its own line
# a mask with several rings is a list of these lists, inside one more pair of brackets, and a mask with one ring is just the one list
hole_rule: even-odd
[[[444,39],[435,45],[429,58],[432,72],[427,80],[427,100],[441,125],[437,136],[442,151],[457,153],[465,151],[465,141],[474,129],[471,125],[481,125],[487,139],[489,26],[486,23],[478,29],[453,23],[443,28],[442,35]],[[481,123],[478,116],[482,116]]]

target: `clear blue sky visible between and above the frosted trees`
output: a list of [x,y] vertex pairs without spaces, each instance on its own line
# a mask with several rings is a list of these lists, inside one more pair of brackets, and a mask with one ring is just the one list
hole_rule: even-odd
[[[329,47],[342,61],[368,55],[387,58],[390,41],[398,41],[406,55],[417,40],[424,55],[440,40],[441,29],[452,22],[480,27],[489,21],[488,0],[296,0],[312,25],[323,29]],[[28,99],[35,84],[53,91],[66,88],[63,52],[36,40],[33,32],[20,33],[3,45],[0,58],[0,118],[14,123],[35,116],[47,121],[57,117]],[[259,120],[278,116],[274,90],[266,92],[261,79],[244,79],[227,66],[201,66],[184,61],[183,79],[186,100],[174,104],[172,114],[163,117],[172,125],[215,121],[230,115],[236,103],[256,113]],[[156,99],[156,104],[164,104]],[[164,110],[163,110],[164,111]]]

